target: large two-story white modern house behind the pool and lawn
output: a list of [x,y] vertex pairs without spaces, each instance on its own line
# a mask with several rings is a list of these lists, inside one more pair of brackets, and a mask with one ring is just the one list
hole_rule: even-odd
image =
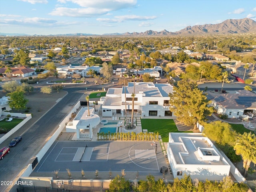
[[[134,113],[141,116],[172,116],[170,112],[170,84],[154,84],[152,82],[129,82],[122,88],[109,88],[106,97],[102,97],[102,116],[125,114],[125,101],[128,114],[132,113],[132,94],[135,86]],[[126,97],[125,97],[126,93]]]

